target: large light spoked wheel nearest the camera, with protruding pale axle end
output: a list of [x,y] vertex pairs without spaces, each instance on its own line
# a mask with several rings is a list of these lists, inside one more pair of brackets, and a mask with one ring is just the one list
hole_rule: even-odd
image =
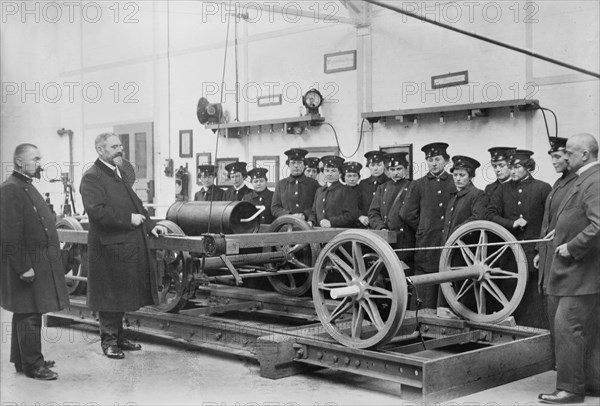
[[408,303],[398,256],[383,238],[363,230],[344,231],[323,248],[312,291],[327,332],[351,348],[387,343],[397,334]]

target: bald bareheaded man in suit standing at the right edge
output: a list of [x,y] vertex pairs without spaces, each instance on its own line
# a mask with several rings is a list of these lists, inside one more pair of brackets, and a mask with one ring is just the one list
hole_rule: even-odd
[[557,210],[548,294],[555,296],[556,391],[543,403],[583,403],[600,395],[600,164],[591,134],[569,138],[572,182]]

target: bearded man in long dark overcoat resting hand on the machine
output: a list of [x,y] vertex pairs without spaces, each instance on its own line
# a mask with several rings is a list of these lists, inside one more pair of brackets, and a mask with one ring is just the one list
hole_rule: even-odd
[[158,236],[166,229],[150,219],[131,185],[122,179],[119,136],[100,134],[95,146],[98,159],[80,185],[89,216],[88,306],[98,312],[104,354],[122,359],[123,350],[141,349],[123,334],[124,313],[158,302],[156,266],[148,238],[150,233]]

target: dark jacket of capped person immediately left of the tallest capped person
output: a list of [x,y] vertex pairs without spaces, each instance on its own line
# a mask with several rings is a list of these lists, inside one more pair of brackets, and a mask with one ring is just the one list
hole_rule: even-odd
[[[400,209],[404,205],[408,188],[408,179],[398,182],[389,180],[380,185],[375,192],[375,197],[369,208],[369,226],[374,230],[392,230],[396,232],[396,242],[393,248],[413,248],[415,246],[415,232],[400,218]],[[414,251],[404,251],[400,259],[414,257]]]

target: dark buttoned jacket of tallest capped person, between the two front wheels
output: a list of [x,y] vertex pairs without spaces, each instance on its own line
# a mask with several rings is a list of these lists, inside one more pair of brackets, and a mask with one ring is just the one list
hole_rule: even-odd
[[[441,246],[444,243],[444,215],[456,187],[452,176],[429,172],[411,183],[400,209],[400,218],[416,231],[416,247]],[[424,272],[438,272],[441,250],[415,252],[415,266]]]

